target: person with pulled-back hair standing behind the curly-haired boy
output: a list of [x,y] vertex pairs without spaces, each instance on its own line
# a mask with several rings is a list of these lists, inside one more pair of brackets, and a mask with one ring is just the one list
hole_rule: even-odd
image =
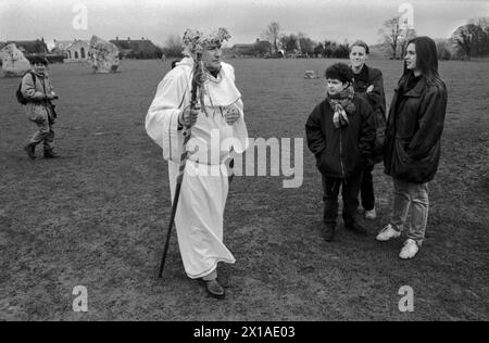
[[384,140],[386,130],[386,96],[384,92],[383,72],[366,65],[371,51],[362,40],[355,41],[350,48],[350,65],[354,74],[353,88],[355,93],[364,97],[374,110],[376,141],[371,157],[363,169],[360,188],[361,205],[366,219],[375,219],[374,167],[384,161]]

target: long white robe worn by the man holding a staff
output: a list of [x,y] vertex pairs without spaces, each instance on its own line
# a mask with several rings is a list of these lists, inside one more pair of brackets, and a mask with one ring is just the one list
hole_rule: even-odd
[[[178,115],[189,105],[193,61],[184,59],[172,69],[158,87],[156,96],[148,111],[148,135],[163,148],[168,161],[172,200],[184,136],[177,130]],[[235,263],[235,257],[223,243],[223,216],[228,193],[225,162],[248,148],[248,130],[244,124],[241,94],[235,86],[233,66],[223,63],[217,78],[209,76],[205,81],[204,103],[209,116],[202,111],[191,130],[191,143],[187,147],[197,152],[187,161],[175,226],[181,259],[189,278],[197,279],[213,272],[217,263]],[[239,110],[238,122],[228,126],[223,111],[228,106]],[[218,143],[211,144],[211,132],[218,132]],[[230,144],[224,140],[235,139]],[[212,170],[211,170],[212,169]],[[203,173],[203,172],[209,173]]]

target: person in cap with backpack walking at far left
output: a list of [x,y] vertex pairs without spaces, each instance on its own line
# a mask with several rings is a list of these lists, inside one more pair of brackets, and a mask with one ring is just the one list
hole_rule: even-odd
[[24,75],[21,91],[27,100],[24,105],[27,118],[36,124],[38,131],[30,138],[29,143],[24,148],[27,156],[36,158],[36,147],[43,144],[45,158],[55,158],[54,153],[54,131],[52,129],[57,117],[52,100],[58,99],[54,93],[51,80],[46,74],[48,61],[41,56],[30,59],[32,71]]

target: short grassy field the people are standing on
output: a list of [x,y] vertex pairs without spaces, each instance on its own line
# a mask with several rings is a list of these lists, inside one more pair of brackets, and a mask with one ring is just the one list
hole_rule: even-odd
[[[324,80],[304,80],[304,71],[333,62],[231,60],[250,137],[303,138],[324,96]],[[371,64],[383,69],[390,102],[401,63]],[[440,65],[449,89],[442,161],[414,261],[398,258],[402,241],[374,240],[391,202],[380,165],[369,237],[340,229],[337,242],[323,240],[321,178],[304,147],[299,189],[283,189],[280,177],[235,179],[225,241],[237,263],[221,268],[225,301],[185,276],[175,237],[165,277],[155,278],[170,188],[143,120],[168,65],[123,61],[115,75],[51,66],[61,97],[57,161],[25,156],[35,127],[14,97],[20,79],[0,78],[0,319],[489,319],[489,63]],[[76,285],[88,289],[86,314],[72,309]],[[414,313],[398,309],[403,285],[414,289]]]

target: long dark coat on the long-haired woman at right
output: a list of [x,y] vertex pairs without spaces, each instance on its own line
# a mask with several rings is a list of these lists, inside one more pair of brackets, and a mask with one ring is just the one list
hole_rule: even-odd
[[[396,93],[386,130],[385,172],[405,182],[425,183],[435,177],[447,110],[447,87],[441,80]],[[400,93],[402,92],[402,93]]]

